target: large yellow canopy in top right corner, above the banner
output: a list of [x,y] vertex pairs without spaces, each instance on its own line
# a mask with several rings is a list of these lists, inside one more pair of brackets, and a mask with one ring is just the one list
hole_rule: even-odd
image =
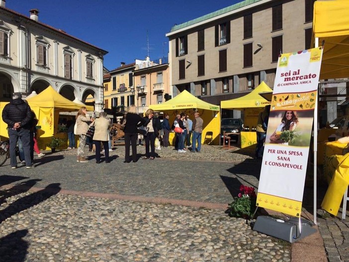
[[349,76],[349,1],[315,1],[313,33],[325,41],[320,79]]

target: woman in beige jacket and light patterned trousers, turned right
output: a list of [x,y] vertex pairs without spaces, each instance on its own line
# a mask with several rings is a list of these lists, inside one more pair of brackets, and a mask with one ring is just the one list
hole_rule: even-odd
[[86,132],[88,130],[88,122],[93,121],[93,118],[90,118],[87,115],[87,108],[85,106],[81,107],[76,116],[77,120],[77,132],[76,135],[79,135],[79,147],[78,147],[78,158],[77,162],[86,163],[88,162],[85,159],[84,148],[86,145]]

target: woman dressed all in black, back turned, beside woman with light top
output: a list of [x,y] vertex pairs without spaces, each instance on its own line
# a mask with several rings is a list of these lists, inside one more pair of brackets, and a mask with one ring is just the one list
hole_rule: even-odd
[[132,161],[137,162],[137,137],[138,127],[145,124],[146,120],[137,114],[137,107],[131,105],[125,116],[126,124],[124,128],[125,133],[125,161],[124,163],[130,163],[130,143],[132,147]]

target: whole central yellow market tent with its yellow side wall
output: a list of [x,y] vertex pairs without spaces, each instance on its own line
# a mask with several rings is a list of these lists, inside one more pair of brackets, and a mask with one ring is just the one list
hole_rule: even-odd
[[[216,142],[217,144],[219,143],[219,105],[207,103],[184,90],[178,95],[174,96],[174,98],[162,104],[150,105],[149,108],[153,109],[154,111],[165,111],[166,113],[170,114],[170,125],[173,123],[176,114],[185,112],[190,116],[190,119],[192,120],[194,117],[194,110],[197,110],[204,122],[201,143],[203,144],[205,142],[205,136],[207,132],[213,132],[214,142]],[[171,138],[173,138],[173,135],[174,134],[172,133],[172,135],[170,136],[170,141],[172,141]]]

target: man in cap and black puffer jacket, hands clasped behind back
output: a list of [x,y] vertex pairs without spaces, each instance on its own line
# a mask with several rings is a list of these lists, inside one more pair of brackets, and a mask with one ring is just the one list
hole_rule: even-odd
[[10,141],[11,168],[17,168],[16,145],[21,139],[24,150],[24,159],[27,169],[33,168],[30,157],[30,127],[33,113],[30,106],[22,100],[22,94],[15,92],[12,100],[2,110],[2,120],[7,124]]

